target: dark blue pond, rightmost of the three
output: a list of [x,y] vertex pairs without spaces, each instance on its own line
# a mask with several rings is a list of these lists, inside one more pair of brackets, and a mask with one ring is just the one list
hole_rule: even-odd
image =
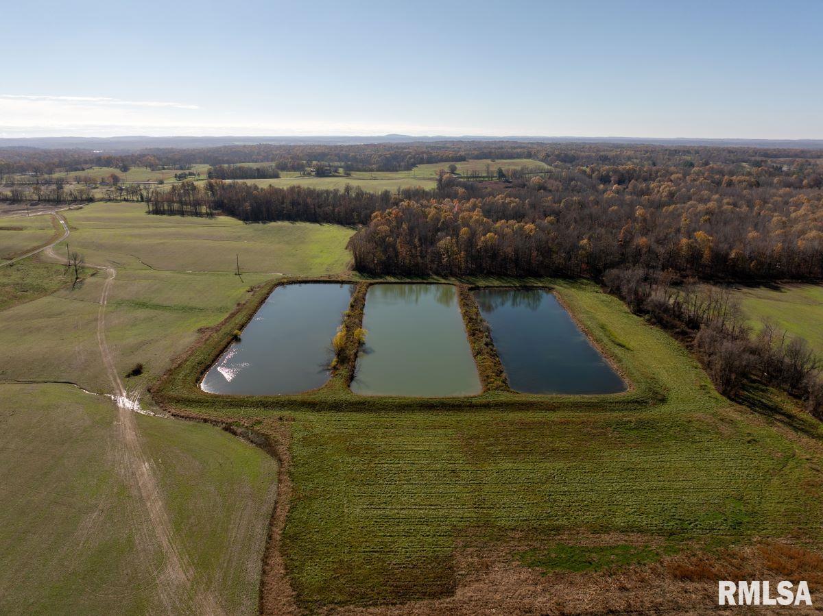
[[500,361],[516,391],[608,394],[625,383],[546,289],[477,289]]

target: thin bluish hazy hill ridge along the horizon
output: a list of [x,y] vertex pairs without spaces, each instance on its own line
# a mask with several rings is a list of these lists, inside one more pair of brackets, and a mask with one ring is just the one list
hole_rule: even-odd
[[657,137],[483,137],[464,135],[445,137],[432,135],[380,136],[311,136],[311,137],[14,137],[0,138],[0,147],[80,148],[83,150],[134,151],[156,147],[214,147],[257,143],[270,144],[350,144],[350,143],[402,143],[410,141],[534,141],[543,143],[648,143],[661,146],[749,146],[774,148],[823,149],[823,139],[695,139]]

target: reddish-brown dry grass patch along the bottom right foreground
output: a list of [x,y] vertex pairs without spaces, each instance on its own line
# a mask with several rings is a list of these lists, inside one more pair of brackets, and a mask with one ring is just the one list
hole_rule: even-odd
[[[649,544],[648,535],[557,535],[579,545]],[[525,567],[515,540],[494,549],[463,547],[456,553],[458,588],[452,596],[399,605],[329,608],[324,614],[718,614],[740,613],[717,605],[718,580],[788,579],[809,582],[812,600],[823,588],[823,556],[793,544],[756,542],[707,550],[698,545],[656,563],[597,572],[544,572]],[[738,611],[735,612],[734,610]],[[768,609],[768,608],[766,608]],[[793,614],[815,608],[791,608]],[[745,609],[744,609],[745,610]],[[747,613],[747,612],[746,612]],[[762,608],[758,614],[766,614]]]

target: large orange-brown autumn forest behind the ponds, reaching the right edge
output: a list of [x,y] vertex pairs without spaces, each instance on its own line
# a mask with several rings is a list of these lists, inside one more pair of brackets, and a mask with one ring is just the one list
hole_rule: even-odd
[[[448,182],[447,182],[448,183]],[[823,277],[821,166],[589,164],[482,197],[413,201],[352,239],[373,273],[592,276],[620,265],[729,279]]]

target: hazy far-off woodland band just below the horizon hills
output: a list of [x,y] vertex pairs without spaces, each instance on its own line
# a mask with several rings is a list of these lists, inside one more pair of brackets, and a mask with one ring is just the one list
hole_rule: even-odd
[[643,146],[621,144],[541,143],[518,141],[434,141],[322,145],[243,145],[201,148],[145,148],[126,153],[81,149],[0,148],[0,179],[9,174],[82,172],[91,167],[148,167],[188,169],[192,164],[275,164],[277,169],[298,171],[310,161],[323,161],[351,170],[398,171],[416,164],[449,163],[470,159],[541,160],[559,166],[624,165],[704,166],[714,164],[763,164],[789,166],[795,160],[820,160],[821,150],[788,150],[761,147]]

